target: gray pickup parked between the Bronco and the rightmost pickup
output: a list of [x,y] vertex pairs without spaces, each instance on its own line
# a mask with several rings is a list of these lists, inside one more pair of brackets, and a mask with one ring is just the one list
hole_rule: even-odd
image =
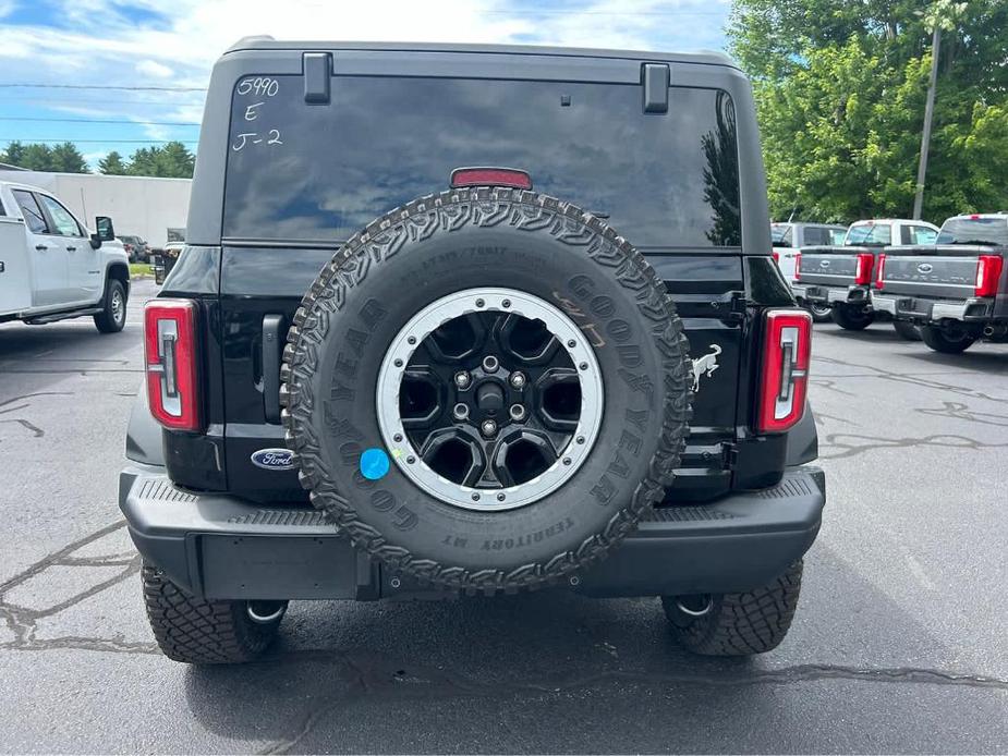
[[[805,306],[828,306],[840,328],[863,330],[876,319],[871,290],[883,249],[890,245],[930,244],[937,233],[936,225],[918,220],[858,221],[848,230],[842,245],[801,249],[791,290]],[[912,326],[895,326],[903,338],[919,338]]]

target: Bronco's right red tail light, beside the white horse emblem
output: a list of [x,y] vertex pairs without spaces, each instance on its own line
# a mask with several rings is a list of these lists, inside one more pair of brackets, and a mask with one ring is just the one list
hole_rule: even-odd
[[756,411],[756,430],[779,434],[801,419],[809,387],[812,354],[812,316],[799,309],[766,314],[763,375]]

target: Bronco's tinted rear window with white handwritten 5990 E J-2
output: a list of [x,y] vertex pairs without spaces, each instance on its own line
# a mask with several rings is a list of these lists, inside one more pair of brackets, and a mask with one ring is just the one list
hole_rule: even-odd
[[644,113],[639,85],[338,76],[307,105],[300,76],[234,90],[224,236],[338,242],[456,168],[518,168],[637,246],[738,246],[734,110],[673,87]]

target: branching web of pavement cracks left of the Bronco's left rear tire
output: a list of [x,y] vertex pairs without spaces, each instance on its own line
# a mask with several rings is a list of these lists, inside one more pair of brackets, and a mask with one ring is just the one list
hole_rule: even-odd
[[[58,614],[92,596],[95,596],[107,588],[117,585],[127,577],[139,573],[141,557],[138,553],[113,553],[99,554],[96,557],[73,557],[73,552],[92,544],[116,531],[125,527],[125,521],[120,520],[106,525],[105,527],[80,538],[56,551],[47,554],[34,564],[29,565],[22,572],[17,573],[5,583],[0,584],[0,618],[3,619],[7,626],[14,634],[14,639],[0,643],[0,650],[49,650],[56,648],[76,648],[81,650],[105,650],[117,651],[121,654],[159,654],[155,643],[134,643],[123,639],[121,636],[111,638],[97,637],[78,637],[66,636],[52,639],[41,639],[35,637],[37,624],[40,619]],[[120,566],[122,568],[111,577],[100,581],[90,587],[74,594],[64,601],[60,601],[45,609],[31,609],[13,603],[7,599],[7,594],[12,588],[26,583],[33,577],[50,566],[70,566],[70,568],[95,568],[95,566]]]

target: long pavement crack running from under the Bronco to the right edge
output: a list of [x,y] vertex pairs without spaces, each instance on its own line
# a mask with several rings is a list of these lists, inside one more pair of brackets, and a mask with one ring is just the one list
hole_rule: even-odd
[[[282,754],[296,747],[311,734],[327,715],[335,715],[347,702],[350,705],[361,700],[364,695],[381,696],[386,699],[405,699],[413,697],[501,697],[522,694],[555,694],[584,690],[602,683],[635,683],[642,685],[664,686],[749,686],[749,685],[793,685],[822,680],[849,680],[867,683],[923,684],[966,686],[1008,691],[1008,679],[980,674],[963,674],[945,670],[919,667],[862,668],[845,664],[797,664],[773,670],[751,670],[744,675],[738,673],[717,674],[700,672],[645,672],[634,670],[599,670],[590,674],[572,676],[568,680],[550,682],[478,682],[450,671],[428,670],[406,674],[387,663],[372,664],[367,659],[354,659],[348,655],[318,651],[295,651],[281,655],[260,663],[290,663],[292,660],[337,662],[348,668],[352,675],[347,680],[348,687],[339,695],[329,697],[315,706],[297,724],[292,734],[278,739],[262,748],[260,754]],[[427,676],[424,676],[426,674]],[[404,686],[410,683],[410,686]],[[391,696],[389,694],[392,694]]]

